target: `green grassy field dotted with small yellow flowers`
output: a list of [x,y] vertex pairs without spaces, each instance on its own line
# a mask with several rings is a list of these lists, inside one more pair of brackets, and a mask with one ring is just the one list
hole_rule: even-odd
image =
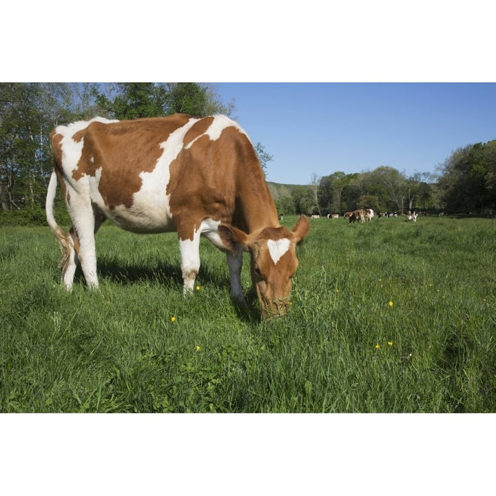
[[105,224],[66,293],[50,229],[1,227],[0,412],[495,412],[496,221],[405,219],[311,220],[270,322],[206,240],[185,298],[175,234]]

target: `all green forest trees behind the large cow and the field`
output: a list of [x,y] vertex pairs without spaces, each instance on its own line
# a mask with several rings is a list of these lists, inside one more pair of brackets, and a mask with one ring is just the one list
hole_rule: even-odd
[[[132,119],[183,112],[231,115],[214,85],[199,83],[0,83],[0,215],[43,218],[52,169],[49,135],[59,124],[91,118]],[[272,156],[261,143],[262,168]],[[333,167],[329,167],[332,169]],[[342,214],[357,208],[482,214],[496,207],[496,140],[460,143],[433,174],[406,176],[394,167],[328,176],[307,185],[269,187],[281,214]]]

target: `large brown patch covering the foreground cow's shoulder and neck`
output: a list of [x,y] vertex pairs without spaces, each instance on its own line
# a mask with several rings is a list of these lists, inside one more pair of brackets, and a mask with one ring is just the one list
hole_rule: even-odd
[[[203,122],[193,127],[207,130]],[[195,133],[196,136],[197,133]],[[192,239],[195,226],[213,218],[251,233],[279,225],[262,167],[246,134],[234,125],[216,140],[200,136],[170,166],[169,205],[181,239]]]

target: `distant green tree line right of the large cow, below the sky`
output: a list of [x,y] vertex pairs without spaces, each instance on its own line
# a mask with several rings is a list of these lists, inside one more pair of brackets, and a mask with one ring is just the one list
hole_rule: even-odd
[[393,167],[329,176],[312,174],[309,185],[269,184],[282,214],[344,214],[420,209],[481,214],[496,210],[496,140],[456,149],[434,174],[407,176]]

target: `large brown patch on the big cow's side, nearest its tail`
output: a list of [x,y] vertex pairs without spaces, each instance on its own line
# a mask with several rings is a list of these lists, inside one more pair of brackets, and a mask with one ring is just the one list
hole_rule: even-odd
[[99,192],[105,205],[110,209],[118,205],[130,208],[134,193],[143,183],[140,174],[155,169],[163,154],[161,143],[188,120],[189,116],[177,114],[141,119],[141,125],[134,125],[134,121],[92,122],[73,136],[77,139],[83,133],[84,145],[72,177],[79,180],[84,174],[96,176],[101,167]]

